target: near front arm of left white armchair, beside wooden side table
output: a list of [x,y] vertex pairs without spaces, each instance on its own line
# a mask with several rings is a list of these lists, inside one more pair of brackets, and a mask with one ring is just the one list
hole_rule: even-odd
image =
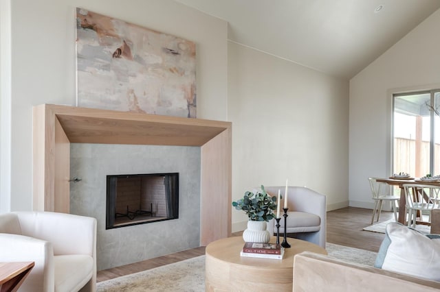
[[54,287],[52,244],[41,239],[18,234],[0,233],[0,262],[34,261],[25,285],[34,291],[50,291]]

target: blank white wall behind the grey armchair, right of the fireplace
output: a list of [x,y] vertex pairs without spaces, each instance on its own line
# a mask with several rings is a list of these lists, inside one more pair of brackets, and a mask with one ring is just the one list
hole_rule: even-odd
[[[329,210],[348,206],[349,83],[248,47],[228,45],[232,200],[254,186],[307,186]],[[244,212],[232,209],[232,231]]]

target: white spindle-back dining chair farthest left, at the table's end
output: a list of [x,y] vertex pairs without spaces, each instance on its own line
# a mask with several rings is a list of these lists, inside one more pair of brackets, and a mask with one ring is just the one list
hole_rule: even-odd
[[[396,202],[399,201],[400,197],[391,194],[391,186],[384,182],[377,182],[377,178],[369,178],[371,195],[374,200],[373,217],[371,217],[371,224],[374,222],[374,217],[377,213],[376,221],[379,221],[380,213],[382,212],[382,203],[384,201],[391,202],[391,208],[393,208],[394,219],[397,221],[397,207]],[[400,210],[399,210],[400,211]],[[403,210],[402,210],[403,211]]]

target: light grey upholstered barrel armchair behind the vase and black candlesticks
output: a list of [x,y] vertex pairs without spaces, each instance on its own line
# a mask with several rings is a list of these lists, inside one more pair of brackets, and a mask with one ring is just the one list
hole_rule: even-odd
[[[265,191],[277,196],[278,189],[284,197],[285,186],[265,186]],[[283,200],[281,201],[283,204]],[[281,205],[281,212],[283,212]],[[303,239],[325,248],[327,232],[327,197],[303,186],[289,186],[287,189],[287,229],[289,237]],[[267,230],[276,232],[276,221],[267,224]],[[280,235],[284,235],[284,217],[280,220]]]

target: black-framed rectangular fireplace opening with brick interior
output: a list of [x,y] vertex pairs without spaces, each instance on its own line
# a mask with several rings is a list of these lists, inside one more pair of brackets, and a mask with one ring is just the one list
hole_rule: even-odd
[[179,218],[179,173],[107,175],[106,229]]

